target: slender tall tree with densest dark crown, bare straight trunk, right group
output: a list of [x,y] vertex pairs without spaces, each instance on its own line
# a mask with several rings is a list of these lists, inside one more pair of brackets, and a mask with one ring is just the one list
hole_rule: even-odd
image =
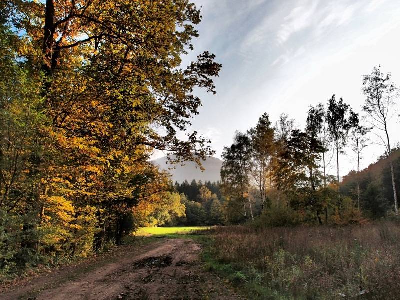
[[[328,108],[326,119],[328,123],[328,130],[331,134],[336,146],[336,161],[337,161],[337,184],[340,186],[339,176],[339,153],[346,145],[348,133],[348,121],[346,119],[347,110],[349,105],[343,103],[343,98],[336,101],[336,95],[328,100]],[[340,193],[339,193],[340,194]]]

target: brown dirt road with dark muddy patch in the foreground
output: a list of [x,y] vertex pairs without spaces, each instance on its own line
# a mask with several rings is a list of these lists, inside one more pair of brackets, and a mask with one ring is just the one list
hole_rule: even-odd
[[239,299],[204,272],[191,239],[123,247],[96,263],[56,271],[0,293],[0,299]]

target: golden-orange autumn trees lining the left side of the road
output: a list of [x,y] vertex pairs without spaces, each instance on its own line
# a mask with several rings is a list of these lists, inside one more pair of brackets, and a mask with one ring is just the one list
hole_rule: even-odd
[[200,20],[188,0],[0,2],[0,277],[184,215],[149,156],[213,153],[176,135],[221,68],[181,65]]

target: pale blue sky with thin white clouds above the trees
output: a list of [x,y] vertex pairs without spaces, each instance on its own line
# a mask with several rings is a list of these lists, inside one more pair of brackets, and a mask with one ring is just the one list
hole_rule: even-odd
[[[379,64],[400,86],[399,0],[192,1],[202,7],[202,22],[183,64],[208,50],[223,67],[216,95],[196,91],[203,106],[189,131],[210,138],[216,157],[236,130],[255,126],[264,112],[272,122],[287,113],[304,128],[308,106],[336,94],[361,113],[362,75]],[[398,129],[393,117],[393,145],[400,141]],[[370,138],[361,167],[384,151],[374,133]],[[347,152],[339,158],[341,175],[356,165]],[[335,163],[330,168],[335,174]]]

